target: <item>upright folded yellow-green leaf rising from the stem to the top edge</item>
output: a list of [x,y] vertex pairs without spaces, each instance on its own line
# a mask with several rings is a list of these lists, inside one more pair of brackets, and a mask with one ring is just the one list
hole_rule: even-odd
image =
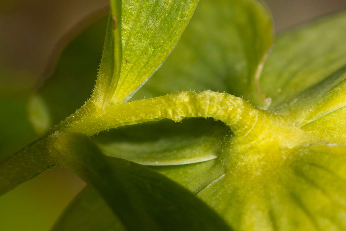
[[95,88],[96,97],[106,97],[104,105],[127,101],[151,77],[179,40],[198,0],[125,0],[121,21],[119,2],[111,1],[113,20]]

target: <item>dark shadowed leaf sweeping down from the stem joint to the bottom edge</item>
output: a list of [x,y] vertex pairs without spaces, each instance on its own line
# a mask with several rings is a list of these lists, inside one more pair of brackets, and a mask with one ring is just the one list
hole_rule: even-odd
[[128,230],[230,230],[181,186],[144,166],[103,156],[84,135],[60,135],[54,148],[66,167],[98,190]]

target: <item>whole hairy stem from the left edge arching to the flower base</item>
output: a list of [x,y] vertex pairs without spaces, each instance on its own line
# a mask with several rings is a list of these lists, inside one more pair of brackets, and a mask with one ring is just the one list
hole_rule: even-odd
[[50,133],[0,162],[0,195],[49,167],[66,163],[72,165],[72,156],[54,149],[56,140],[61,141],[61,137],[67,133],[90,136],[108,128],[165,118],[181,121],[185,117],[212,117],[226,123],[235,135],[245,136],[257,120],[266,115],[266,112],[254,108],[241,98],[213,91],[181,92],[113,104],[108,105],[105,111],[88,101]]

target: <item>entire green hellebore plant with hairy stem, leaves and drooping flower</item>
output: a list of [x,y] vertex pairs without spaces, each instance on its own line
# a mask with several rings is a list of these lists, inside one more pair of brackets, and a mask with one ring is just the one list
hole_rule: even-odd
[[272,47],[259,2],[197,3],[111,0],[92,96],[73,113],[97,63],[76,58],[97,54],[102,20],[31,96],[45,135],[4,152],[0,192],[62,165],[88,186],[54,230],[346,229],[346,15]]

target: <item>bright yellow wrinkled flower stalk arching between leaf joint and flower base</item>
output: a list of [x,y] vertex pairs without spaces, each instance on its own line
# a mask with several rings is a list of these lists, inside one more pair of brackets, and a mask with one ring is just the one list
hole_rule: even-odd
[[186,91],[108,105],[104,113],[88,105],[58,124],[54,130],[90,136],[108,128],[165,118],[179,122],[186,117],[212,117],[226,123],[235,135],[242,136],[246,135],[264,114],[263,110],[230,94]]

